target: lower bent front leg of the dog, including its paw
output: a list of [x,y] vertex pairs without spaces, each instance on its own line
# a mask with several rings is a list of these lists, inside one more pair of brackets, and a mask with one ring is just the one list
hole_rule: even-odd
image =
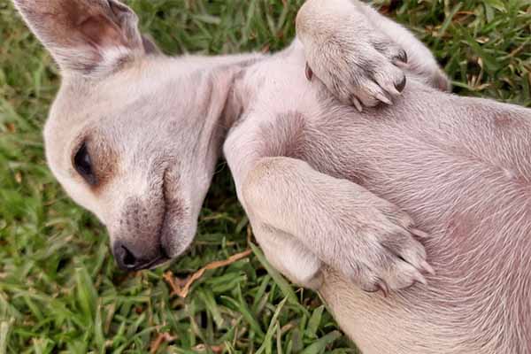
[[[355,183],[276,157],[293,139],[264,135],[257,122],[243,120],[224,149],[240,201],[274,266],[312,288],[319,288],[322,264],[366,291],[425,282],[421,272],[431,268],[408,215]],[[296,135],[296,117],[274,124]]]

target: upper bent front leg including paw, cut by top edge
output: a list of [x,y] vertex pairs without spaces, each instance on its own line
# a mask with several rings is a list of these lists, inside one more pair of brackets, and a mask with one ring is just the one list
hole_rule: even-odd
[[391,104],[405,73],[447,90],[429,50],[407,29],[357,0],[308,0],[296,19],[312,72],[345,104]]

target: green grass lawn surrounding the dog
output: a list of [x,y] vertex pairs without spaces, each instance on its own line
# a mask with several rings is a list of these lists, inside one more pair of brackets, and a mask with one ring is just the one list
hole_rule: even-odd
[[[325,1],[325,0],[323,0]],[[167,53],[279,50],[302,0],[131,0]],[[435,51],[459,94],[531,105],[529,0],[385,2]],[[0,0],[0,354],[158,352],[355,353],[308,290],[259,253],[208,271],[187,299],[186,277],[246,250],[247,219],[219,165],[195,247],[172,266],[126,274],[95,218],[60,189],[43,158],[42,124],[58,71],[7,0]]]

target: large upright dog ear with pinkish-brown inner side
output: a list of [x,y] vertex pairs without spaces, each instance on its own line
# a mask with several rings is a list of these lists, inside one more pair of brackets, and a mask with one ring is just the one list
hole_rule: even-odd
[[117,0],[13,0],[65,73],[107,72],[145,53],[138,18]]

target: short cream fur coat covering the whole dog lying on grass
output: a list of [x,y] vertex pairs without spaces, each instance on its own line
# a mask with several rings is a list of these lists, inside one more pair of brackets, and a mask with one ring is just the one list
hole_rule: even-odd
[[186,250],[224,144],[268,258],[364,352],[531,352],[529,110],[444,93],[429,51],[354,0],[309,0],[275,56],[225,58],[152,54],[115,0],[15,4],[64,73],[50,167],[116,252]]

